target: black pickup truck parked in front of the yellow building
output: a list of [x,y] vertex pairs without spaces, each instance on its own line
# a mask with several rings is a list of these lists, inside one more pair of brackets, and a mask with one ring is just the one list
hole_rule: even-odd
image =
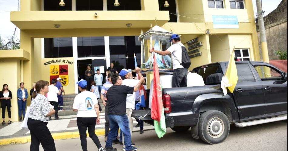
[[[215,144],[227,138],[230,124],[245,127],[287,119],[287,73],[265,62],[236,61],[237,85],[224,95],[220,83],[227,66],[218,62],[194,68],[204,86],[162,89],[166,127],[176,132],[191,127],[193,138]],[[149,108],[134,110],[132,117],[153,125]]]

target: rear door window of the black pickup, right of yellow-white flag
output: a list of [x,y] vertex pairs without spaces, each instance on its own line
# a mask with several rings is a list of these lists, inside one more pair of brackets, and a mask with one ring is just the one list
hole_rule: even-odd
[[238,82],[255,81],[253,73],[248,64],[236,64],[236,68],[237,68]]

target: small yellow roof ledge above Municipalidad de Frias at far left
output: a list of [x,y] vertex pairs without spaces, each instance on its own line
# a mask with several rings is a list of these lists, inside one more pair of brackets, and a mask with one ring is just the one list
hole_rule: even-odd
[[0,50],[0,59],[30,60],[30,53],[23,49]]

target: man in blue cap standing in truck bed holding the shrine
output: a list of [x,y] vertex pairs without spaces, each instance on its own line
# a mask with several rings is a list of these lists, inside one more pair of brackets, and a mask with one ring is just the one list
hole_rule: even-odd
[[172,87],[187,87],[188,70],[181,65],[182,47],[184,47],[184,45],[181,43],[179,34],[172,34],[170,42],[173,43],[172,46],[170,46],[165,51],[159,51],[154,50],[154,48],[150,48],[149,52],[154,51],[156,54],[160,54],[162,56],[172,54],[171,55],[173,62]]

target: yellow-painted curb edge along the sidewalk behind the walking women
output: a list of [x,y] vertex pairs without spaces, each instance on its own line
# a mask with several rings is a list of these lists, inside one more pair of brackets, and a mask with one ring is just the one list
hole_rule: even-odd
[[[97,136],[104,136],[105,130],[104,129],[95,130],[95,134]],[[87,136],[89,136],[88,132],[87,132]],[[79,132],[52,133],[52,137],[54,140],[80,138]],[[9,144],[24,144],[24,143],[30,143],[30,142],[31,142],[30,136],[7,138],[7,139],[0,139],[0,146],[9,145]]]

